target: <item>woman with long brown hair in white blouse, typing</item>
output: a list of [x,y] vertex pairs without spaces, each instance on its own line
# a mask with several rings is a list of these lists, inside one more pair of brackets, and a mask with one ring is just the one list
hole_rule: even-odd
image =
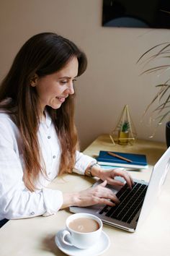
[[[73,121],[74,82],[86,56],[55,33],[33,36],[20,49],[0,87],[0,220],[48,216],[71,205],[115,205],[105,186],[120,184],[125,171],[103,171],[78,151]],[[81,192],[62,193],[48,184],[73,168],[104,182]]]

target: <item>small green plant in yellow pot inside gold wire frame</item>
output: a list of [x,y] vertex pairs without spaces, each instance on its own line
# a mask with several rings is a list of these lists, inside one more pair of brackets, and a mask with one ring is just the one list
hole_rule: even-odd
[[120,130],[119,130],[119,140],[118,143],[120,145],[127,145],[128,144],[128,137],[129,137],[129,129],[130,124],[127,120],[120,123]]

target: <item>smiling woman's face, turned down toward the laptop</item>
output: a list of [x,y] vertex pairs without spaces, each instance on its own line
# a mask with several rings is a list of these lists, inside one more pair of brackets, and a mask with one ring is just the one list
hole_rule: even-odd
[[78,67],[78,60],[73,57],[60,71],[37,77],[35,88],[40,100],[41,114],[45,106],[60,108],[68,95],[74,93],[73,82],[78,74]]

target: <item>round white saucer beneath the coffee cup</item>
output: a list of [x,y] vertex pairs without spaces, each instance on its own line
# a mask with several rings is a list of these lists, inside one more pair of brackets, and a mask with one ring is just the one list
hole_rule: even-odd
[[64,244],[61,241],[61,232],[62,231],[58,231],[58,233],[55,235],[55,244],[58,246],[59,249],[61,249],[62,252],[66,253],[66,255],[97,256],[101,255],[109,248],[109,236],[107,236],[107,234],[104,233],[104,231],[102,231],[99,241],[88,249],[79,249],[77,247]]

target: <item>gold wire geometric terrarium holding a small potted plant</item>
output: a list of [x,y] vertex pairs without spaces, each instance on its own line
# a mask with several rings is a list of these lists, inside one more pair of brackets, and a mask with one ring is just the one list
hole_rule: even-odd
[[110,133],[109,137],[112,140],[112,143],[118,143],[120,145],[133,145],[136,139],[135,127],[130,116],[128,105],[122,110],[122,114],[117,123],[117,126]]

